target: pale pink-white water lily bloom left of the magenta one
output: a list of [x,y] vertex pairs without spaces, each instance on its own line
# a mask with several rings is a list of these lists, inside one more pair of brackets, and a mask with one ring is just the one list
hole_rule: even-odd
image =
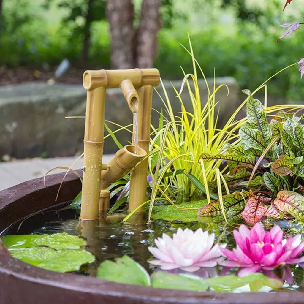
[[158,265],[163,270],[180,268],[184,271],[197,271],[200,267],[214,267],[222,255],[219,248],[226,247],[226,244],[213,246],[213,243],[214,233],[209,235],[202,228],[195,232],[188,228],[178,228],[172,238],[163,233],[162,237],[155,240],[157,248],[148,248],[157,258],[149,263]]

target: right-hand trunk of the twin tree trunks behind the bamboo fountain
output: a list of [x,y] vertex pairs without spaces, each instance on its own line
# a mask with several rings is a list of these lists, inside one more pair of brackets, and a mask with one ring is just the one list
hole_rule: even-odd
[[136,67],[153,67],[157,50],[157,32],[161,28],[159,8],[161,0],[143,0],[136,36]]

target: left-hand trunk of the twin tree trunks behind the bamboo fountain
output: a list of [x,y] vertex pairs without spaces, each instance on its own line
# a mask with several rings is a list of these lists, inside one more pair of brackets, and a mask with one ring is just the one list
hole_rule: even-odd
[[134,67],[134,7],[132,0],[107,0],[107,19],[112,37],[111,64],[114,69]]

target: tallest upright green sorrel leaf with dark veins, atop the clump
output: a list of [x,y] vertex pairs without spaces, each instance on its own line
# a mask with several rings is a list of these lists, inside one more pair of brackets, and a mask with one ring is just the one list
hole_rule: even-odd
[[[264,140],[265,148],[272,140],[270,126],[266,114],[264,112],[264,105],[252,97],[249,97],[247,101],[247,119],[251,128],[258,129],[261,132],[261,136]],[[256,148],[257,147],[253,147]]]

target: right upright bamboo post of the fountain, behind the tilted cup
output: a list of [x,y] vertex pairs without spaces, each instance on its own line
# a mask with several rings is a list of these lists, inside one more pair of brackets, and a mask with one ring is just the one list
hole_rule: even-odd
[[[151,109],[152,109],[152,85],[144,85],[137,89],[137,94],[140,98],[138,105],[138,146],[149,152],[150,143],[150,124],[151,124]],[[135,128],[133,126],[132,144],[135,143]],[[130,199],[129,209],[131,212],[146,201],[147,191],[147,175],[148,175],[148,159],[142,161],[131,172],[130,180]],[[138,212],[143,212],[144,207]]]

